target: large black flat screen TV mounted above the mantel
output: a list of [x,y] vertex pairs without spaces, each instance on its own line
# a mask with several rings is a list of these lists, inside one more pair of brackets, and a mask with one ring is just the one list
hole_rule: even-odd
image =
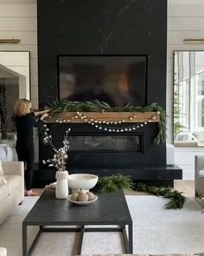
[[59,99],[146,105],[147,56],[58,56]]

